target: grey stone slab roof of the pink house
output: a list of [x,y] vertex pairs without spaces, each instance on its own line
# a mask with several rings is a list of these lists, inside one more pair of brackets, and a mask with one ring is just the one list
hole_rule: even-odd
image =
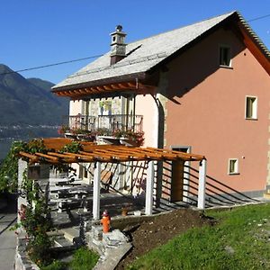
[[[157,66],[160,62],[173,55],[177,50],[184,48],[187,44],[200,38],[202,34],[210,31],[214,26],[226,20],[232,14],[237,14],[240,22],[247,29],[249,34],[256,35],[243,17],[238,12],[223,14],[200,23],[194,23],[173,31],[151,36],[147,39],[137,40],[127,44],[127,56],[114,65],[110,65],[111,52],[97,58],[86,67],[81,68],[75,74],[68,76],[65,80],[52,87],[53,90],[60,90],[65,87],[83,85],[85,83],[98,82],[99,80],[110,79],[118,76],[132,76],[145,73]],[[257,38],[257,36],[256,36]],[[258,46],[269,56],[269,50],[260,41]],[[262,43],[262,44],[260,44]]]

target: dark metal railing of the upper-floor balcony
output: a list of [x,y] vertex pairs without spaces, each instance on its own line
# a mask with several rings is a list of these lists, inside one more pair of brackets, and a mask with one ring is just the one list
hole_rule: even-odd
[[64,116],[64,124],[72,130],[134,130],[142,131],[143,116],[131,114],[112,115],[69,115]]

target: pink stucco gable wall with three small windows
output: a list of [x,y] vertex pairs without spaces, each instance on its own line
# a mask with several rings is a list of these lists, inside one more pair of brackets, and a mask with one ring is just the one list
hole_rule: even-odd
[[[219,46],[232,68],[219,67]],[[167,65],[166,148],[192,146],[207,175],[238,191],[266,188],[270,78],[232,31],[219,30]],[[257,121],[245,120],[246,95],[257,96]],[[239,175],[228,175],[238,158]]]

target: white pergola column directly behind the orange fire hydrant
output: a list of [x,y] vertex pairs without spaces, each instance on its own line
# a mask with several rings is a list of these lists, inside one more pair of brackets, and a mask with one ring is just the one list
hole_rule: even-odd
[[93,219],[100,219],[100,179],[101,163],[96,162],[94,168],[94,186],[93,186]]

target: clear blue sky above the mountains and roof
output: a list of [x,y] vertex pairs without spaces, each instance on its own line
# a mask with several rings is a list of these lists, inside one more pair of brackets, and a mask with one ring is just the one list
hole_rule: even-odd
[[[0,5],[0,63],[21,70],[110,50],[121,24],[126,42],[237,10],[270,48],[270,0],[9,0]],[[58,83],[93,59],[20,73]]]

